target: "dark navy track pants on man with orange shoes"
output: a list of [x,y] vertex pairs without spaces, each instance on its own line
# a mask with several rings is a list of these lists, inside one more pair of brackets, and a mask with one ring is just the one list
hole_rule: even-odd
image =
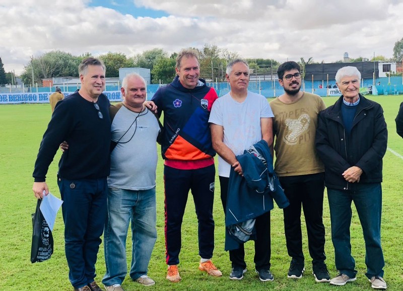
[[198,254],[210,259],[214,250],[214,165],[194,170],[164,166],[166,263],[179,264],[182,220],[189,190],[197,216]]

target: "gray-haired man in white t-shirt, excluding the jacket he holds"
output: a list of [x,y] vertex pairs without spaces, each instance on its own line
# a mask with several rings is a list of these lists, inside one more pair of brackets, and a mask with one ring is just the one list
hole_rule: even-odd
[[[273,113],[264,96],[248,91],[248,64],[241,59],[231,61],[227,66],[226,78],[231,91],[213,104],[209,119],[213,148],[219,154],[218,171],[224,211],[231,167],[238,174],[243,174],[236,156],[262,139],[271,148],[273,146]],[[270,212],[256,218],[255,230],[256,272],[261,281],[273,281],[270,272]],[[230,279],[240,280],[246,272],[244,247],[241,245],[229,253],[232,263]]]

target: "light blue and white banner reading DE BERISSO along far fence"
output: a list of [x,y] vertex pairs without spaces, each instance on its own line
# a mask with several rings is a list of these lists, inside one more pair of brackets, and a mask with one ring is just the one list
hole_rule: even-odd
[[[49,103],[49,96],[54,92],[38,93],[0,93],[0,104],[22,104],[22,103]],[[62,92],[64,98],[73,92]],[[120,91],[103,92],[111,102],[122,101]]]

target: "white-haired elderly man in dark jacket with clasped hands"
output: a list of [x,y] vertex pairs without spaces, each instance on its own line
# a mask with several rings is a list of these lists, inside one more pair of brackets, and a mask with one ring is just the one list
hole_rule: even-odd
[[382,158],[387,145],[383,110],[359,93],[361,73],[356,67],[339,69],[335,79],[343,95],[320,112],[315,138],[317,153],[325,166],[331,239],[340,272],[330,284],[356,280],[350,244],[354,201],[365,240],[366,276],[373,288],[386,289],[380,237]]

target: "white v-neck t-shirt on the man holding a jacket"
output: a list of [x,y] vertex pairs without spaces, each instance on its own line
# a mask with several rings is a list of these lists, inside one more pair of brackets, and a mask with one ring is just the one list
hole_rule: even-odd
[[[244,102],[232,99],[230,93],[214,102],[209,123],[224,128],[224,144],[235,155],[243,154],[244,150],[261,140],[260,118],[274,117],[272,109],[264,96],[248,91]],[[218,157],[218,174],[230,176],[231,165]]]

